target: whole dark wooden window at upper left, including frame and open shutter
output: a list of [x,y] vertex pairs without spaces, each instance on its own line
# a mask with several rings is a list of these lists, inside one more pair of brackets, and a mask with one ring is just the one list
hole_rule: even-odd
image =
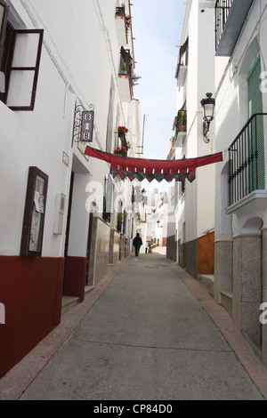
[[43,43],[43,29],[15,29],[0,0],[0,70],[5,92],[0,99],[12,110],[33,110]]

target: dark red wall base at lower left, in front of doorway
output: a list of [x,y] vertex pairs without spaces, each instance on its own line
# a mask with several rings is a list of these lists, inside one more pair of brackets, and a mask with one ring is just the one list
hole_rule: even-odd
[[64,258],[0,256],[0,378],[61,322]]

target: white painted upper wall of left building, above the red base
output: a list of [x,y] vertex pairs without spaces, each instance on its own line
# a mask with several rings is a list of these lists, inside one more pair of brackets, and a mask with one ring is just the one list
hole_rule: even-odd
[[[65,230],[70,172],[75,155],[73,169],[77,171],[77,180],[83,179],[78,186],[76,183],[75,196],[81,199],[79,210],[83,214],[79,210],[74,214],[69,251],[72,255],[84,256],[87,243],[85,237],[81,238],[83,231],[77,228],[77,222],[81,225],[81,218],[83,222],[86,218],[85,183],[90,179],[99,181],[103,186],[109,165],[93,158],[88,161],[77,149],[77,143],[72,145],[74,111],[76,103],[83,104],[85,109],[90,104],[94,105],[92,146],[105,150],[109,88],[113,77],[114,119],[127,125],[128,105],[121,103],[117,90],[121,45],[117,41],[115,10],[120,2],[9,0],[8,3],[15,28],[44,28],[44,44],[34,111],[11,111],[0,102],[0,173],[3,179],[0,183],[0,253],[20,253],[28,166],[36,165],[49,175],[42,255],[63,256],[65,233],[53,235],[54,201],[57,193],[67,197]],[[127,2],[125,6],[128,7]],[[132,45],[127,47],[131,49]],[[129,117],[132,117],[131,113]],[[134,124],[138,123],[137,117]],[[117,126],[114,126],[116,129]],[[135,127],[133,129],[136,130]],[[69,166],[62,162],[63,151],[69,156]],[[85,231],[88,222],[83,222]]]

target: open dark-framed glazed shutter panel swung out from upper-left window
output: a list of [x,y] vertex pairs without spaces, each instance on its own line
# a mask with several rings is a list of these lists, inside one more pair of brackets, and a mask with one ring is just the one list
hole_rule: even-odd
[[6,105],[12,110],[33,110],[44,30],[14,30],[12,65]]

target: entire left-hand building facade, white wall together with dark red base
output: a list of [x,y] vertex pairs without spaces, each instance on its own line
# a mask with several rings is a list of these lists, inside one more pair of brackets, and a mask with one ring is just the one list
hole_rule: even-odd
[[[128,102],[122,102],[123,98],[131,97],[124,94],[130,92],[129,86],[126,85],[123,92],[118,83],[122,43],[115,14],[122,1],[5,1],[10,6],[8,21],[14,29],[41,29],[44,38],[34,109],[11,110],[0,101],[0,293],[4,305],[12,311],[12,321],[6,325],[6,338],[0,344],[0,357],[4,359],[0,376],[60,324],[62,295],[83,302],[86,285],[99,283],[108,272],[109,262],[117,263],[129,249],[129,241],[126,247],[125,237],[114,231],[115,219],[111,219],[110,224],[101,219],[109,165],[85,157],[86,144],[78,141],[77,136],[73,138],[77,106],[81,106],[80,110],[91,110],[90,105],[94,106],[90,145],[96,149],[106,150],[107,132],[109,150],[117,146],[118,125],[131,125],[127,138],[131,142],[132,133],[137,133],[140,125],[137,102],[135,111],[129,109]],[[5,6],[2,2],[1,8],[2,4]],[[125,15],[129,15],[130,2],[124,4]],[[126,39],[123,25],[122,28],[120,34]],[[9,30],[12,32],[12,28],[7,32]],[[125,42],[123,46],[133,55],[131,33],[129,35],[129,44]],[[26,58],[33,58],[33,37],[20,33],[20,41],[21,38],[24,44],[20,43],[16,52],[22,63],[28,64]],[[2,42],[1,37],[1,45]],[[6,61],[1,62],[1,70],[4,64]],[[2,81],[3,76],[0,76]],[[17,81],[20,78],[20,83],[13,89],[12,99],[24,105],[19,100],[28,76],[17,71],[15,78]],[[0,87],[3,92],[2,85]],[[110,91],[113,102],[109,100]],[[11,104],[9,100],[10,97],[7,104]],[[137,135],[134,141],[138,141]],[[30,166],[43,171],[49,180],[42,254],[29,258],[20,256],[20,240]],[[125,185],[119,188],[124,206],[129,197],[129,184],[125,182]],[[55,231],[57,195],[64,195],[66,199],[62,230]],[[97,211],[94,217],[87,210],[93,200]],[[29,209],[28,212],[30,214]],[[130,224],[131,219],[127,217],[127,237]]]

